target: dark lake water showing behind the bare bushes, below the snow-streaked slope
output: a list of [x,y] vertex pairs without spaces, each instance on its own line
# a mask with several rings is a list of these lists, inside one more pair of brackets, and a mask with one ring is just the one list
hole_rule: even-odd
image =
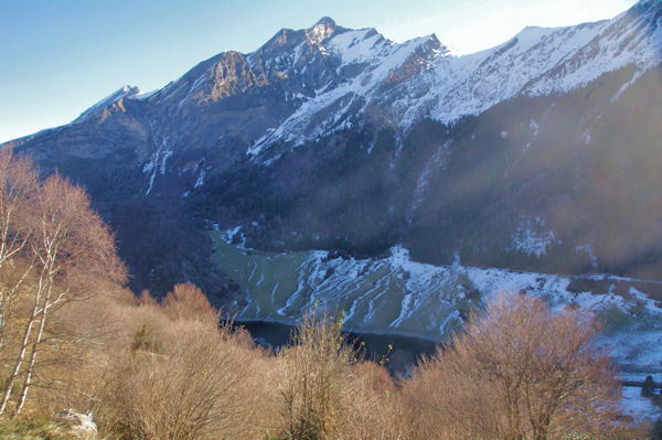
[[[235,320],[235,325],[245,328],[260,345],[279,350],[289,344],[295,325],[276,321]],[[393,334],[387,332],[343,331],[348,341],[361,347],[365,342],[365,357],[380,362],[394,375],[406,375],[420,355],[430,355],[436,351],[439,341],[427,340],[413,335]],[[392,350],[389,350],[389,345]],[[386,361],[387,359],[387,361]]]

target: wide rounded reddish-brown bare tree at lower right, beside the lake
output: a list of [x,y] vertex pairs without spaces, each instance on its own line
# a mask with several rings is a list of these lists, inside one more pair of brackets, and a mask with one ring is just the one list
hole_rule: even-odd
[[406,384],[420,436],[543,440],[615,428],[620,387],[596,335],[578,312],[498,297]]

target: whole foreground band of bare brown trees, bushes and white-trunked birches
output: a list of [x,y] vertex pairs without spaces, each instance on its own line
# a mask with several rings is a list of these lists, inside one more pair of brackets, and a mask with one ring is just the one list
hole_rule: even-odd
[[11,152],[0,185],[2,438],[643,436],[620,417],[615,372],[577,311],[502,296],[406,378],[317,311],[273,353],[220,325],[191,283],[161,301],[126,290],[113,236],[79,187],[39,179]]

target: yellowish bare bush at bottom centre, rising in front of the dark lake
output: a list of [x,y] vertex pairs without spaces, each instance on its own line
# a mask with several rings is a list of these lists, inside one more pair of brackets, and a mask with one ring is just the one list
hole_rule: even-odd
[[279,355],[282,428],[288,440],[398,438],[397,389],[388,373],[345,343],[342,316],[307,315]]

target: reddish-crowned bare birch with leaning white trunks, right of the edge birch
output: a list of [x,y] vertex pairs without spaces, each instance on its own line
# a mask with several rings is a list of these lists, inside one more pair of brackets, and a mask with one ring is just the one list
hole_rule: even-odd
[[[20,167],[25,165],[29,162],[12,164],[11,159],[8,162],[9,169],[22,170]],[[12,180],[9,182],[11,185]],[[29,215],[17,219],[25,225],[24,230],[10,230],[3,243],[20,250],[24,268],[21,278],[23,300],[31,307],[26,308],[26,315],[17,321],[22,325],[22,336],[6,380],[0,415],[6,414],[17,389],[19,396],[12,415],[23,408],[51,314],[70,301],[88,298],[108,283],[119,285],[126,279],[113,236],[90,208],[81,187],[54,174],[38,184],[33,193],[22,196],[32,206]],[[19,251],[8,258],[15,264]],[[30,282],[24,283],[24,278]],[[17,388],[19,377],[22,380]]]

